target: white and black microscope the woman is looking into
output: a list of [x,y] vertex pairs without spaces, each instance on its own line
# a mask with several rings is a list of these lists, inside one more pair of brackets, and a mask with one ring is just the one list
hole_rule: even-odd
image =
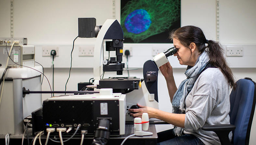
[[[158,109],[157,77],[158,67],[168,62],[167,57],[177,52],[175,47],[156,55],[143,65],[143,79],[137,77],[109,77],[102,79],[104,72],[116,72],[122,75],[125,64],[122,63],[124,34],[117,20],[106,20],[102,26],[96,26],[95,18],[78,18],[78,37],[96,38],[94,46],[94,90],[112,88],[114,93],[126,94],[126,121],[133,121],[128,109],[139,108],[136,104]],[[110,60],[102,58],[104,51],[115,51],[116,57]],[[78,84],[79,85],[79,84]]]

